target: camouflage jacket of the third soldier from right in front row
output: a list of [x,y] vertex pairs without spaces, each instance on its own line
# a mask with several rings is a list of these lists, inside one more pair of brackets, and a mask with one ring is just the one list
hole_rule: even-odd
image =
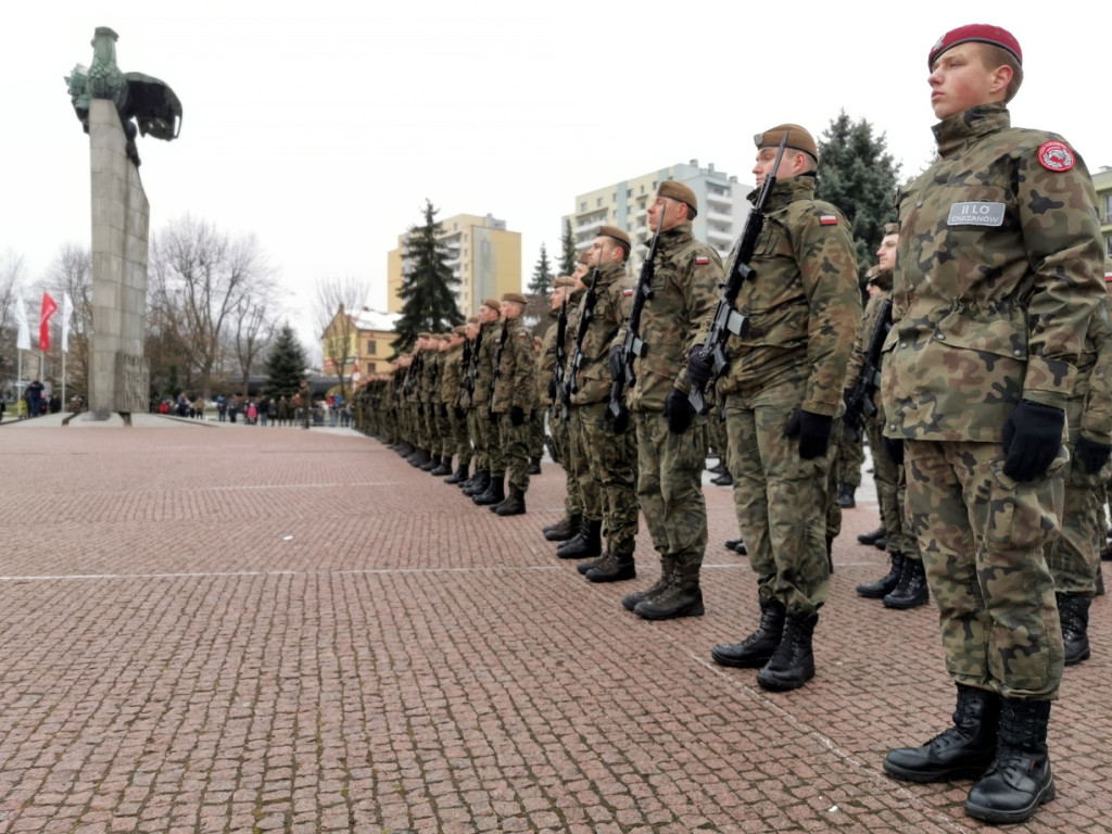
[[[687,354],[699,325],[714,315],[725,277],[718,252],[694,238],[689,222],[661,232],[655,266],[653,297],[642,309],[638,334],[647,349],[634,361],[636,379],[626,390],[634,411],[663,410],[673,388],[691,389]],[[625,331],[623,325],[614,344],[622,342]]]

